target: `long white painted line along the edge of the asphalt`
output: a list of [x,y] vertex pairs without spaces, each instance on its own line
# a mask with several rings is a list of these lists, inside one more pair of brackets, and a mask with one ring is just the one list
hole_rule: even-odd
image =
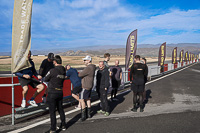
[[[193,64],[193,65],[195,65],[195,64]],[[170,74],[168,74],[168,75],[165,75],[165,76],[160,77],[160,78],[158,78],[158,79],[155,79],[155,80],[153,80],[153,81],[147,82],[146,84],[151,84],[151,83],[153,83],[153,82],[156,82],[156,81],[158,81],[158,80],[161,80],[161,79],[163,79],[163,78],[166,78],[166,77],[168,77],[168,76],[171,76],[171,75],[173,75],[173,74],[175,74],[175,73],[178,73],[178,72],[180,72],[180,71],[183,71],[183,70],[185,70],[185,69],[187,69],[187,68],[189,68],[189,67],[191,67],[191,66],[193,66],[193,65],[190,65],[190,66],[188,66],[188,67],[185,67],[185,68],[183,68],[183,69],[180,69],[180,70],[178,70],[178,71],[175,71],[175,72],[173,72],[173,73],[170,73]],[[118,95],[124,94],[124,93],[129,92],[129,91],[130,91],[130,89],[129,89],[129,90],[126,90],[126,91],[123,91],[123,92],[119,93]],[[109,99],[109,98],[110,98],[110,96],[108,97],[108,99]],[[95,104],[98,104],[98,103],[100,103],[100,100],[91,103],[91,105],[95,105]],[[79,110],[81,110],[81,109],[80,109],[80,108],[73,109],[73,110],[71,110],[71,111],[65,112],[65,115],[69,115],[69,114],[74,113],[74,112],[79,111]],[[60,115],[57,115],[56,118],[60,118]],[[8,133],[19,133],[19,132],[23,132],[23,131],[26,131],[26,130],[28,130],[28,129],[34,128],[34,127],[36,127],[36,126],[39,126],[39,125],[41,125],[41,124],[44,124],[44,123],[46,123],[46,122],[49,122],[49,121],[50,121],[50,118],[48,118],[48,119],[46,119],[46,120],[43,120],[43,121],[40,121],[40,122],[38,122],[38,123],[32,124],[32,125],[29,125],[29,126],[26,126],[26,127],[20,128],[20,129],[17,129],[17,130],[14,130],[14,131],[8,132]]]

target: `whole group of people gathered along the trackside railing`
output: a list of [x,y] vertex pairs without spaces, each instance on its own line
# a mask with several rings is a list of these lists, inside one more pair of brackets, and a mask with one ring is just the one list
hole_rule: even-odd
[[[83,62],[86,67],[78,73],[75,68],[72,68],[70,64],[65,67],[62,65],[62,59],[59,55],[53,53],[48,54],[48,58],[43,60],[39,74],[35,70],[34,62],[31,59],[31,51],[29,51],[28,59],[31,67],[16,72],[19,83],[21,84],[22,91],[22,104],[21,107],[26,107],[26,94],[28,91],[28,85],[33,88],[37,88],[34,95],[28,100],[28,103],[32,106],[38,106],[35,102],[35,97],[44,90],[47,86],[44,95],[42,96],[42,102],[47,103],[49,106],[49,113],[51,119],[51,132],[56,131],[56,109],[60,114],[61,124],[57,129],[66,130],[65,114],[62,107],[63,104],[63,82],[65,79],[70,79],[73,90],[72,96],[79,102],[81,108],[81,121],[85,121],[87,118],[91,118],[91,92],[94,86],[94,77],[96,66],[92,64],[91,56],[83,58]],[[110,107],[107,99],[108,90],[111,83],[111,101],[116,101],[117,90],[122,80],[122,69],[119,66],[119,60],[115,61],[115,65],[109,67],[108,62],[110,60],[110,54],[104,54],[104,61],[99,62],[99,70],[96,74],[96,92],[101,101],[100,110],[97,113],[101,113],[105,116],[110,115]],[[144,59],[145,60],[145,59]],[[144,61],[146,62],[146,60]],[[137,95],[139,95],[139,106],[142,112],[142,103],[144,100],[145,83],[147,81],[148,68],[145,63],[140,62],[140,56],[135,56],[135,63],[131,67],[130,79],[131,89],[133,90],[133,109],[137,111]],[[33,76],[36,76],[34,78]]]

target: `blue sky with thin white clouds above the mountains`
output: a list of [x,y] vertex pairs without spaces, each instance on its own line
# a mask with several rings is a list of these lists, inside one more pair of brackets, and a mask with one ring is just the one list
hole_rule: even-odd
[[[11,51],[14,0],[0,0],[0,52]],[[33,0],[31,49],[200,43],[200,0]]]

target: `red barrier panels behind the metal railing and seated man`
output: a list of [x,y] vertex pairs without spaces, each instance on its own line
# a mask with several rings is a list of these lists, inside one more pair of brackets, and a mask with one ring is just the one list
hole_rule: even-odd
[[[11,84],[11,77],[0,77],[0,84]],[[19,83],[18,78],[13,78],[14,83]],[[70,96],[71,95],[71,82],[70,80],[65,80],[63,84],[63,96]],[[46,87],[45,87],[46,88]],[[21,106],[22,102],[22,87],[15,86],[14,88],[14,95],[15,95],[15,108]],[[36,89],[33,89],[29,86],[29,90],[26,96],[27,101],[33,96]],[[42,102],[42,96],[44,94],[43,90],[36,98],[36,103]],[[29,105],[27,103],[27,105]],[[0,87],[0,116],[8,115],[12,113],[12,87]]]

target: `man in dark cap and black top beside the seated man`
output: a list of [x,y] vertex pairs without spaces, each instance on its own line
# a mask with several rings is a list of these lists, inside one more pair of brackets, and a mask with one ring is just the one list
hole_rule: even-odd
[[[54,54],[53,53],[49,53],[48,54],[48,58],[44,59],[42,61],[42,64],[40,65],[40,69],[39,69],[38,79],[41,79],[42,82],[46,85],[47,88],[48,88],[48,82],[44,82],[44,77],[46,76],[46,74],[48,73],[49,70],[54,68],[53,58],[54,58]],[[47,88],[46,88],[46,90],[44,92],[44,95],[42,96],[42,102],[43,103],[46,102]]]

